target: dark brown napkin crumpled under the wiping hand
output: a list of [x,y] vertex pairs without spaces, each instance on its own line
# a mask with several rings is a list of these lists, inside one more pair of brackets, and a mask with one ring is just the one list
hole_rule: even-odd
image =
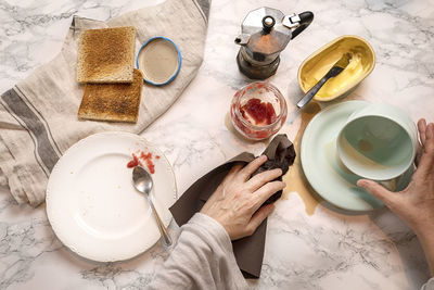
[[[295,159],[294,146],[284,134],[276,136],[263,154],[267,155],[268,160],[252,176],[273,168],[281,168],[284,175]],[[182,226],[202,209],[234,164],[247,164],[254,159],[252,153],[243,152],[197,179],[169,209],[177,224]],[[282,177],[277,180],[282,180]],[[282,190],[265,203],[272,203],[281,196]],[[232,241],[237,263],[245,278],[259,278],[266,231],[267,219],[252,236]]]

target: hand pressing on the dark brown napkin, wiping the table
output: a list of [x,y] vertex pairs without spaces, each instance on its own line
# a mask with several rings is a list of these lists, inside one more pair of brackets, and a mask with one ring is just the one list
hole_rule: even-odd
[[234,165],[201,210],[201,213],[216,219],[231,240],[255,232],[275,209],[273,204],[263,207],[260,205],[285,187],[282,181],[271,181],[282,175],[280,168],[263,172],[250,178],[266,161],[267,156],[261,155],[244,167]]

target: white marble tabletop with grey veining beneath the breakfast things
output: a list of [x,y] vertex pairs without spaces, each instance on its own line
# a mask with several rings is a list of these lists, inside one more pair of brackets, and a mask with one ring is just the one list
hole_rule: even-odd
[[[156,2],[0,0],[0,91],[60,51],[74,14],[108,20]],[[373,46],[378,59],[349,99],[390,102],[414,119],[433,121],[433,0],[214,0],[197,77],[143,133],[169,159],[180,192],[234,154],[264,149],[263,142],[240,140],[224,122],[234,91],[247,83],[237,68],[233,39],[245,14],[261,5],[315,13],[311,26],[282,52],[270,79],[290,111],[302,96],[301,62],[335,37],[354,34]],[[282,131],[293,139],[299,123],[297,114],[290,114]],[[171,224],[170,232],[176,231]],[[156,244],[124,263],[85,261],[59,242],[44,205],[17,205],[7,189],[0,191],[0,289],[142,289],[168,255]],[[427,278],[417,237],[387,210],[347,215],[319,205],[309,216],[298,194],[290,193],[269,219],[261,278],[251,283],[257,289],[419,289]]]

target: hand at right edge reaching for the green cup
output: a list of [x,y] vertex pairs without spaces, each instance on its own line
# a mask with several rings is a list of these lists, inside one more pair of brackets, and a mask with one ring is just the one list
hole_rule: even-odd
[[379,198],[418,235],[434,274],[434,124],[418,122],[418,168],[406,189],[391,192],[375,181],[360,179],[359,187]]

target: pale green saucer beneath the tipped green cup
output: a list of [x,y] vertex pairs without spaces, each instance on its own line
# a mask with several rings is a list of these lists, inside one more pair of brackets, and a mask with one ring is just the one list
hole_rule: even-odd
[[368,104],[347,101],[324,109],[310,121],[302,139],[301,161],[307,180],[324,200],[349,211],[383,206],[375,197],[357,187],[361,177],[346,169],[336,152],[336,138],[348,116]]

